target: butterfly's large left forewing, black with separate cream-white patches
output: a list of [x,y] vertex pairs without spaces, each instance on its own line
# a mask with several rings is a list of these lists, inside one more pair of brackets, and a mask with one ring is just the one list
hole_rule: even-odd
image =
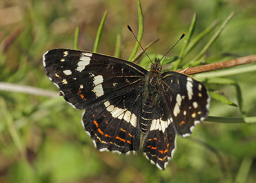
[[49,79],[76,109],[131,90],[147,72],[129,61],[72,49],[49,50],[43,63]]

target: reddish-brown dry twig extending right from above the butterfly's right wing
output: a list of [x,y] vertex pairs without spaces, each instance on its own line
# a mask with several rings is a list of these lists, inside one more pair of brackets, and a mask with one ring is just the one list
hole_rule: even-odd
[[218,70],[218,69],[224,69],[224,68],[234,67],[238,65],[249,64],[253,62],[256,62],[256,55],[241,57],[238,59],[232,59],[224,62],[202,65],[202,66],[193,67],[193,68],[186,68],[186,70],[185,69],[176,70],[176,72],[183,72],[187,75],[193,75],[193,74],[208,72],[212,70]]

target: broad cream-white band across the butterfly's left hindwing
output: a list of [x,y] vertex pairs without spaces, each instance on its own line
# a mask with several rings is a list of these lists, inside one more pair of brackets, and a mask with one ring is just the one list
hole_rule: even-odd
[[124,119],[124,121],[131,123],[134,127],[137,126],[137,116],[132,114],[131,111],[114,107],[109,101],[105,101],[104,106],[114,118],[117,117],[118,119]]

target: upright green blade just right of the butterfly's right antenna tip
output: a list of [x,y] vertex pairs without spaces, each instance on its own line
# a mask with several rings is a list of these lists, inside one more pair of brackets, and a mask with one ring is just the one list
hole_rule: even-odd
[[197,14],[194,13],[194,16],[193,16],[193,19],[192,19],[192,22],[191,22],[191,25],[189,27],[189,30],[188,32],[186,33],[186,40],[184,41],[185,43],[183,44],[181,50],[180,50],[180,54],[179,54],[179,59],[177,60],[175,66],[174,66],[174,70],[177,70],[179,65],[180,65],[180,62],[182,61],[182,59],[184,58],[184,51],[188,45],[188,43],[190,42],[190,38],[194,32],[194,29],[195,29],[195,24],[197,22]]

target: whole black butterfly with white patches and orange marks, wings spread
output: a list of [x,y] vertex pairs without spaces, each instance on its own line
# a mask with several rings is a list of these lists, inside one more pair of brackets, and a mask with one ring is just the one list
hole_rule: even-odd
[[49,79],[75,109],[99,151],[142,150],[164,170],[176,149],[176,134],[189,136],[209,111],[205,86],[175,71],[150,70],[111,56],[52,49],[43,56]]

